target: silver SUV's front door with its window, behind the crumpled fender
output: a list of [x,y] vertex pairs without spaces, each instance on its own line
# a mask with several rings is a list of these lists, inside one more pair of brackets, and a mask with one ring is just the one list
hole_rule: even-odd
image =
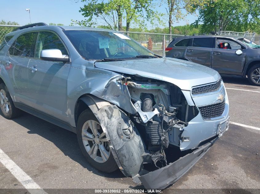
[[30,106],[60,120],[67,118],[67,78],[70,64],[40,59],[45,49],[59,49],[68,52],[53,32],[39,32],[36,42],[35,58],[28,65]]

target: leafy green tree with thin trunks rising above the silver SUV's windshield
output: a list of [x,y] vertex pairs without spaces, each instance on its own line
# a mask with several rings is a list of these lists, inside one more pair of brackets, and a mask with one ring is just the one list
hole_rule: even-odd
[[155,10],[156,4],[153,0],[82,0],[85,3],[80,7],[85,20],[73,21],[74,24],[83,26],[97,26],[98,21],[105,22],[105,26],[110,29],[123,31],[122,21],[126,20],[126,31],[130,30],[130,25],[134,23],[142,28],[146,28],[146,22],[152,25],[154,21],[160,21],[162,14]]

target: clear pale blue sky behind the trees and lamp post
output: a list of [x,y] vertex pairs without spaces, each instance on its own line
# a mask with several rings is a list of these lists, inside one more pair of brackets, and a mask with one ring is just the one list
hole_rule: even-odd
[[[0,20],[16,21],[20,25],[26,25],[30,23],[30,18],[29,13],[25,9],[29,8],[32,23],[44,22],[49,24],[52,22],[70,25],[71,19],[84,19],[81,13],[78,12],[81,6],[83,6],[83,3],[80,0],[78,3],[75,3],[74,0],[2,0]],[[166,12],[164,7],[159,7],[158,11]],[[186,25],[187,22],[190,24],[196,19],[195,16],[188,15],[186,17],[187,21],[174,22],[173,26]],[[167,25],[167,17],[164,18],[164,21]],[[148,29],[150,29],[151,25],[147,25]],[[159,27],[163,26],[159,25]]]

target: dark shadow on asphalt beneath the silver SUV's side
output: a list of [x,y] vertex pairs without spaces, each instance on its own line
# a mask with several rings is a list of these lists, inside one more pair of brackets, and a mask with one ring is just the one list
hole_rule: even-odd
[[78,162],[87,170],[107,178],[125,177],[119,169],[113,173],[102,173],[92,167],[86,161],[81,150],[79,149],[77,136],[73,132],[67,131],[66,129],[58,127],[26,112],[22,112],[22,116],[13,119],[13,121],[30,130],[28,131],[29,134],[40,135],[48,141],[54,143],[54,145],[57,146],[57,148],[60,149],[65,156],[68,156],[75,162]]

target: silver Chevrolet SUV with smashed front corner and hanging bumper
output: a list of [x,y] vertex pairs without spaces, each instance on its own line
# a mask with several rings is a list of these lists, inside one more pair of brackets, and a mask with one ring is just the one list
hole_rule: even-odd
[[229,127],[217,71],[162,58],[121,33],[26,25],[0,46],[2,115],[73,131],[87,162],[145,188],[186,173]]

